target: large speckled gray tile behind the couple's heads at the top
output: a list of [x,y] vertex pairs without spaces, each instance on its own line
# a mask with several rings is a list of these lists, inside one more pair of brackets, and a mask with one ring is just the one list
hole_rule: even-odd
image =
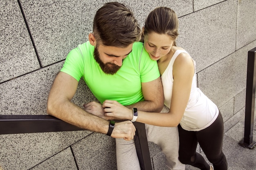
[[[110,0],[93,3],[79,0],[64,2],[21,0],[20,2],[42,65],[46,66],[65,59],[71,49],[88,40],[96,11]],[[121,0],[120,2],[132,7],[141,26],[149,11],[159,6],[157,1]],[[178,16],[193,12],[192,0],[179,2],[171,0],[171,2],[166,1],[166,4],[172,4],[171,7],[176,9]]]

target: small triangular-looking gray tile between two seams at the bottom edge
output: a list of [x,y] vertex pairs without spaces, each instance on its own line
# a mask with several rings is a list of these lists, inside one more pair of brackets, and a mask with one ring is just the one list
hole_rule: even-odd
[[77,170],[70,147],[50,157],[30,170]]

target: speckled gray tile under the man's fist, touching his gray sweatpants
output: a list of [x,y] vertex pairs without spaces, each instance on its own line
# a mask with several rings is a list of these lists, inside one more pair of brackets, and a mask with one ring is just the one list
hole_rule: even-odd
[[79,170],[117,169],[115,139],[100,133],[72,145]]

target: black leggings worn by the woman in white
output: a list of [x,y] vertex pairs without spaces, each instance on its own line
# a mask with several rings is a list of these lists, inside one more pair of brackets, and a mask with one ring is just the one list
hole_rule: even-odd
[[178,125],[178,129],[180,138],[179,159],[181,163],[201,170],[210,169],[202,155],[196,152],[199,143],[207,159],[213,164],[214,170],[227,170],[227,160],[222,152],[224,128],[220,112],[213,124],[203,130],[188,131],[180,125]]

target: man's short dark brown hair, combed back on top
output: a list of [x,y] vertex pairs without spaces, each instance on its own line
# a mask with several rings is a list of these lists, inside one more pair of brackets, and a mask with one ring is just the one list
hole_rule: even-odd
[[97,42],[117,47],[127,47],[141,36],[132,10],[119,2],[106,3],[96,12],[93,33]]

